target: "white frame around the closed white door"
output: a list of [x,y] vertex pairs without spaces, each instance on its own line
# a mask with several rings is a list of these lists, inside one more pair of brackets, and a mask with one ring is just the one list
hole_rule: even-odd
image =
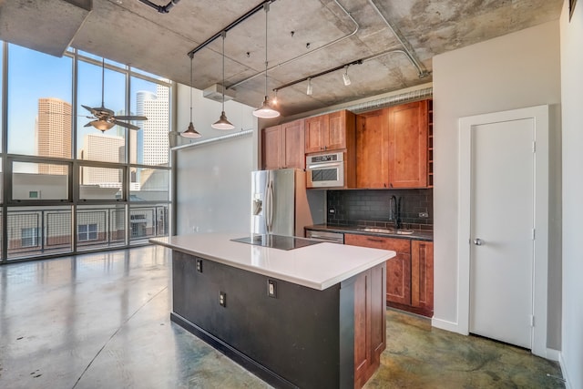
[[457,231],[457,320],[459,330],[469,333],[472,128],[500,121],[533,119],[535,123],[534,219],[536,239],[533,263],[532,353],[547,358],[548,283],[548,118],[547,105],[459,118],[459,201]]

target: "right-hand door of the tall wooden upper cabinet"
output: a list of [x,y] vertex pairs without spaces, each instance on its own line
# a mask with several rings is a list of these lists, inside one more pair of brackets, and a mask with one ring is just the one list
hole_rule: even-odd
[[389,108],[389,186],[427,186],[427,100]]

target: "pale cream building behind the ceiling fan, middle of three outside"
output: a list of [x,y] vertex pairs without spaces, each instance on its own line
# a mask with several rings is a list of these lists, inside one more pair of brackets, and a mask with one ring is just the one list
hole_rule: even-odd
[[[125,140],[105,134],[87,134],[83,138],[81,159],[118,162],[123,157]],[[81,185],[98,185],[100,188],[122,188],[120,169],[83,167]]]

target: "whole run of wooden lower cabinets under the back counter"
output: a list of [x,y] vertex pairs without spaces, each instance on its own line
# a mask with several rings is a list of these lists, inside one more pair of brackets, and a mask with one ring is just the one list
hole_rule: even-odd
[[386,304],[433,316],[433,242],[347,233],[344,244],[395,251],[396,256],[386,261]]

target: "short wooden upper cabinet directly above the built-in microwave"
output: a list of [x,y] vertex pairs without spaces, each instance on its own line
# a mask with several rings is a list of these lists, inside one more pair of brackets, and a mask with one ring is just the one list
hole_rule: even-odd
[[354,114],[347,110],[305,119],[306,154],[347,148],[354,123]]

